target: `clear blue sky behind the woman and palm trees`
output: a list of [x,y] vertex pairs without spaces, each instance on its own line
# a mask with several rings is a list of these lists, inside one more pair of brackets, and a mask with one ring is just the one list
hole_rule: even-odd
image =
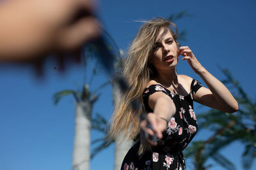
[[[228,68],[255,100],[256,73],[256,3],[248,1],[99,1],[99,17],[118,46],[127,49],[140,27],[135,20],[168,17],[186,11],[192,17],[176,22],[180,31],[187,31],[188,45],[202,65],[220,80],[224,78],[218,65]],[[90,63],[88,63],[90,65]],[[36,80],[31,67],[0,67],[0,169],[55,170],[71,169],[74,139],[74,99],[63,98],[57,106],[52,95],[63,89],[79,90],[89,78],[83,67],[70,66],[65,74],[56,71],[53,62],[45,66],[45,78]],[[180,60],[179,74],[200,80],[189,65]],[[91,89],[107,81],[104,71],[93,80]],[[202,81],[202,80],[200,80]],[[95,104],[93,115],[111,116],[111,86],[100,90],[102,96]],[[207,108],[196,105],[196,113]],[[102,134],[92,132],[92,138]],[[209,134],[200,132],[196,139]],[[113,169],[113,149],[109,146],[91,161],[91,169]],[[241,169],[243,145],[234,143],[222,150]],[[209,162],[211,163],[211,162]],[[187,162],[188,169],[192,169]],[[212,170],[221,169],[214,164]],[[252,169],[256,169],[253,164]]]

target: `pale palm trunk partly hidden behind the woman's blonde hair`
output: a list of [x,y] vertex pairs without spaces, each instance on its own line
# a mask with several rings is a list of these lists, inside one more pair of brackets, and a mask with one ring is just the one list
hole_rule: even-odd
[[[113,104],[116,106],[118,102],[120,102],[120,89],[116,81],[113,81]],[[115,163],[114,163],[114,170],[120,170],[120,167],[122,166],[122,162],[124,160],[124,157],[128,150],[132,146],[132,140],[128,140],[127,138],[124,138],[123,140],[123,135],[125,134],[120,134],[117,136],[115,139]]]

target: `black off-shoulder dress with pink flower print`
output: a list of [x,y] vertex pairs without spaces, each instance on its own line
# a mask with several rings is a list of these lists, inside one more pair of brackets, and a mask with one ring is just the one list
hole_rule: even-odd
[[150,169],[186,169],[182,150],[188,146],[197,131],[197,122],[193,110],[193,99],[202,84],[197,80],[191,82],[191,92],[188,96],[180,96],[170,92],[162,85],[150,85],[143,92],[143,103],[147,112],[152,112],[148,106],[148,97],[154,92],[163,92],[173,99],[176,113],[163,132],[163,139],[157,139],[157,146],[138,155],[140,142],[135,143],[125,155],[121,170],[150,170]]

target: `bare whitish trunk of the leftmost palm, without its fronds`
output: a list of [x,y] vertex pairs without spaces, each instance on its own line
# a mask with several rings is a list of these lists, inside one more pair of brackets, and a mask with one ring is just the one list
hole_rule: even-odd
[[76,103],[73,170],[90,169],[90,132],[92,104],[88,101]]

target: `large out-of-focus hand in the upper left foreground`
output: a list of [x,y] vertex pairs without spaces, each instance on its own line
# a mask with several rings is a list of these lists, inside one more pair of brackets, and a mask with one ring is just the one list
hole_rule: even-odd
[[89,0],[10,0],[0,3],[0,62],[39,62],[77,52],[100,34]]

